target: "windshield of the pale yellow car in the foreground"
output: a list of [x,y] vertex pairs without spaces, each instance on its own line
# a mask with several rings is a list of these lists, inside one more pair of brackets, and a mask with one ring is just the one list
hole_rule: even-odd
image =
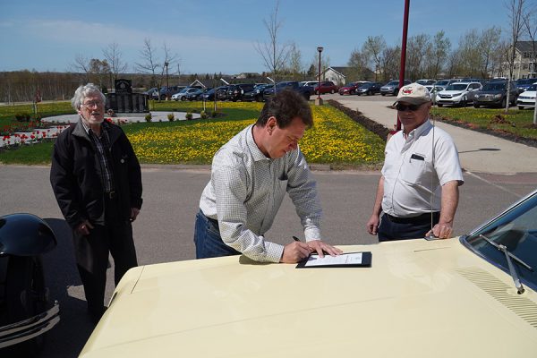
[[474,230],[472,234],[461,236],[461,241],[466,246],[508,274],[505,253],[480,235],[484,235],[493,243],[505,245],[507,251],[532,267],[533,271],[512,260],[516,266],[516,273],[523,283],[537,289],[537,191]]

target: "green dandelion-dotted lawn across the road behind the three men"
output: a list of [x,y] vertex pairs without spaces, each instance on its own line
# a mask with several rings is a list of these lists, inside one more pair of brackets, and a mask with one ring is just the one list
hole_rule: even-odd
[[[158,111],[195,111],[200,102],[152,104]],[[226,141],[260,115],[260,103],[220,103],[216,118],[122,126],[141,163],[210,164]],[[212,112],[213,108],[207,108]],[[379,166],[385,143],[334,107],[312,107],[315,126],[306,132],[301,148],[311,163],[333,167]],[[52,143],[36,143],[0,151],[0,163],[47,164]]]

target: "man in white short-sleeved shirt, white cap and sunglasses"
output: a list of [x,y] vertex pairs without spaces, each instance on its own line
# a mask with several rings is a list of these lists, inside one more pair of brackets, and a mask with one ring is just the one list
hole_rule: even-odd
[[[385,149],[370,234],[379,241],[448,238],[464,183],[455,143],[429,121],[430,93],[418,83],[399,90],[396,110],[403,130]],[[380,214],[384,215],[380,218]],[[432,230],[431,230],[432,227]]]

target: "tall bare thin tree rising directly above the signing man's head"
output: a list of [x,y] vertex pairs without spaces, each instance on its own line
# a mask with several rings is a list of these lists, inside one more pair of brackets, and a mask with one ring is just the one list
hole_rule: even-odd
[[287,56],[289,55],[288,45],[278,44],[279,31],[282,27],[282,22],[278,20],[277,13],[279,9],[279,0],[276,0],[274,10],[270,13],[270,17],[263,20],[265,28],[268,31],[268,42],[254,44],[254,48],[260,54],[268,72],[272,73],[274,81],[277,80],[277,73],[280,72],[286,64]]

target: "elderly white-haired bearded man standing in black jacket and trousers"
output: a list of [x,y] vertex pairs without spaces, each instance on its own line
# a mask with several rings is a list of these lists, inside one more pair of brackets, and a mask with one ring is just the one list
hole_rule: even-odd
[[91,83],[76,90],[71,101],[80,121],[58,136],[50,170],[94,322],[105,310],[108,252],[115,285],[138,265],[131,222],[142,201],[140,164],[123,130],[104,121],[105,100]]

